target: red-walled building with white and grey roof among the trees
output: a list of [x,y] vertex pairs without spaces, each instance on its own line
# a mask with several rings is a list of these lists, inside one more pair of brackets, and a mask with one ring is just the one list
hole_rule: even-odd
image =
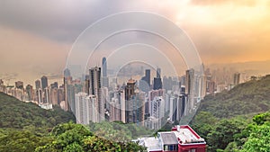
[[188,125],[157,132],[157,137],[140,138],[139,145],[148,152],[205,152],[206,142]]

